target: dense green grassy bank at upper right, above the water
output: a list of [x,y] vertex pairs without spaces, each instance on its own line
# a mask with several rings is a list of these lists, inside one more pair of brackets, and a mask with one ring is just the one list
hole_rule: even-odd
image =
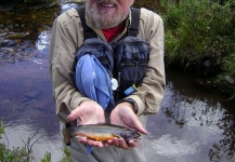
[[235,9],[211,0],[161,1],[166,27],[166,65],[212,78],[235,94]]

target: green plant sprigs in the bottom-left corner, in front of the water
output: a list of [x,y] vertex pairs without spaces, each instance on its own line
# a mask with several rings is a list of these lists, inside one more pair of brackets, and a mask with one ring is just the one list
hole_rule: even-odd
[[[10,149],[8,136],[4,134],[3,122],[0,121],[0,162],[30,162],[34,159],[32,147],[40,138],[39,137],[34,140],[37,133],[38,132],[36,132],[34,135],[30,135],[26,143],[23,141],[23,147],[13,147]],[[3,143],[3,136],[6,139],[8,144]],[[44,158],[41,160],[41,162],[51,162],[51,153],[45,152]],[[70,151],[68,151],[67,148],[63,149],[63,158],[61,162],[70,162]]]

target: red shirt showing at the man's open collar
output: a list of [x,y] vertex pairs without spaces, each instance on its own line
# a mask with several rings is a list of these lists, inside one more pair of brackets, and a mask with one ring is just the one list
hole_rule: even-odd
[[118,35],[120,31],[123,30],[123,28],[125,28],[125,23],[114,28],[102,29],[102,32],[104,33],[107,42],[110,42],[116,35]]

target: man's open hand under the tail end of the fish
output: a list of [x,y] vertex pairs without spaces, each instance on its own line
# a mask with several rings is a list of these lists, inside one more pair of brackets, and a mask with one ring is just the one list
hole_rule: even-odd
[[[67,117],[68,121],[74,121],[76,119],[77,125],[104,123],[104,109],[94,100],[84,100]],[[90,146],[103,147],[102,143],[83,137],[78,138],[78,140]]]

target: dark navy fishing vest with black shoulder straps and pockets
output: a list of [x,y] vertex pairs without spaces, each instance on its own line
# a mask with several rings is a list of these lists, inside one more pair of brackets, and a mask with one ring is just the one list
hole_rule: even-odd
[[82,55],[94,55],[112,78],[115,102],[138,91],[145,76],[149,55],[149,45],[136,38],[140,9],[131,9],[132,23],[127,35],[112,44],[99,39],[86,24],[84,5],[76,10],[80,16],[84,36],[84,42],[76,54],[76,63]]

